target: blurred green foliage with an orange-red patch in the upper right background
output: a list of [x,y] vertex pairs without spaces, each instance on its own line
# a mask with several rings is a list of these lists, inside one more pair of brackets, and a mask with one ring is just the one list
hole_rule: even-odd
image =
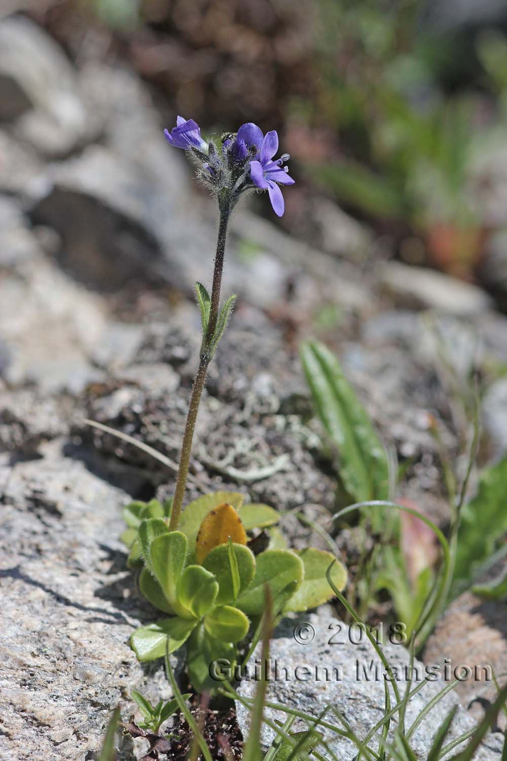
[[306,158],[315,185],[398,240],[420,237],[434,264],[467,277],[488,234],[473,167],[505,116],[507,40],[478,35],[476,81],[449,93],[453,40],[425,30],[421,5],[318,0],[315,99],[291,108],[331,135],[324,155]]

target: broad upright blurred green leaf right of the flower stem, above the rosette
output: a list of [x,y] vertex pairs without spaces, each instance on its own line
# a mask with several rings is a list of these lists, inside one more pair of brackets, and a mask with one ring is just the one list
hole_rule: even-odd
[[337,358],[316,341],[303,344],[301,358],[318,416],[340,454],[345,489],[356,501],[388,498],[388,457]]

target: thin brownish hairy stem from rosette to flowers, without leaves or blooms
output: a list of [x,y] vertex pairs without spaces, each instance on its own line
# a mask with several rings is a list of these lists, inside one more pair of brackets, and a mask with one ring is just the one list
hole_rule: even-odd
[[190,455],[192,454],[192,441],[194,438],[195,421],[199,403],[201,402],[202,390],[208,373],[208,365],[211,361],[211,355],[208,352],[208,346],[214,336],[217,327],[218,314],[220,311],[220,288],[222,285],[223,273],[223,254],[225,253],[225,240],[227,237],[227,223],[229,221],[230,203],[229,199],[223,199],[220,203],[220,224],[218,227],[217,253],[214,261],[213,286],[211,288],[211,305],[210,317],[208,320],[208,330],[202,342],[201,358],[197,374],[192,385],[192,394],[190,396],[189,412],[185,422],[185,432],[183,434],[182,448],[179,455],[178,476],[176,477],[176,489],[173,499],[173,510],[171,511],[170,530],[176,531],[179,526],[179,517],[182,511],[183,499],[185,498],[186,482],[189,476]]

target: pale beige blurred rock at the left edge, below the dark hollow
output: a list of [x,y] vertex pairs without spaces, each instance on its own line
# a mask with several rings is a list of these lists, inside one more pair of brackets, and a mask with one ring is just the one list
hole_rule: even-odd
[[33,232],[13,224],[9,243],[8,230],[5,251],[11,256],[5,255],[0,299],[8,359],[2,376],[13,386],[35,383],[43,393],[79,393],[102,377],[90,354],[105,330],[106,308],[55,266]]

